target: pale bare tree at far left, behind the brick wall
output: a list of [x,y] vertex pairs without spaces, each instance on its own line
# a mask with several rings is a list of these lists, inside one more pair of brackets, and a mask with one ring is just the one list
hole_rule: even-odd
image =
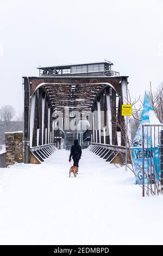
[[0,117],[1,117],[1,122],[5,126],[6,132],[9,131],[9,123],[11,119],[15,116],[16,111],[11,105],[4,105],[0,109]]

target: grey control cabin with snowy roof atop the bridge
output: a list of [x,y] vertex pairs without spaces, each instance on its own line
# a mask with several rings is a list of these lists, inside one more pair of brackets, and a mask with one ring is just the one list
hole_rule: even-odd
[[114,64],[110,61],[88,62],[78,64],[61,64],[54,66],[39,66],[40,76],[115,76],[119,72],[113,71]]

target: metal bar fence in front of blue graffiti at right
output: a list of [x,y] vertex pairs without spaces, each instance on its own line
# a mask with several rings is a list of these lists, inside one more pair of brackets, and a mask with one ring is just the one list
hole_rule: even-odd
[[163,175],[161,180],[161,163],[163,167],[162,128],[163,124],[142,125],[142,175],[140,178],[142,179],[143,197],[145,193],[154,195],[163,191]]

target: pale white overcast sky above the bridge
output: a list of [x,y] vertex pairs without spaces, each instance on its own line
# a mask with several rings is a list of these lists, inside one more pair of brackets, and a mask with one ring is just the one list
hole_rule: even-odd
[[36,67],[107,59],[131,97],[163,81],[161,0],[0,0],[0,108],[23,108]]

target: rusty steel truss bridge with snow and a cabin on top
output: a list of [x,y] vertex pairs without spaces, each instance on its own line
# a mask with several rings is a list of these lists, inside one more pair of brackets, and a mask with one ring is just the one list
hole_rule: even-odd
[[121,106],[127,100],[128,82],[112,65],[104,61],[46,66],[39,67],[39,76],[23,77],[25,163],[43,162],[56,148],[69,150],[75,138],[83,148],[90,143],[104,146],[109,162],[123,162]]

